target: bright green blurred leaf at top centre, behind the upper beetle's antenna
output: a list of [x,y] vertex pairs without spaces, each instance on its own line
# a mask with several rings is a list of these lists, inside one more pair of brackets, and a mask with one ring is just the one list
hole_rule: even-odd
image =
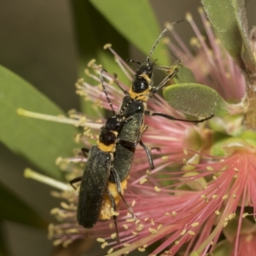
[[[154,10],[147,0],[90,0],[96,9],[123,35],[131,44],[145,55],[149,54],[155,40],[160,35],[160,26]],[[115,48],[115,45],[113,45]],[[164,44],[159,44],[154,51],[161,65],[170,65],[170,58]]]

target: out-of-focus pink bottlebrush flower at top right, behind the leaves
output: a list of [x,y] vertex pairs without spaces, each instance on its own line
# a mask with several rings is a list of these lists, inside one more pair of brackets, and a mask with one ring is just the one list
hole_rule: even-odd
[[215,37],[212,26],[202,8],[199,8],[199,13],[207,38],[201,35],[193,17],[189,13],[186,15],[186,20],[189,21],[195,32],[195,38],[190,40],[195,54],[186,47],[172,27],[170,32],[177,41],[177,45],[168,43],[168,46],[177,58],[183,57],[183,65],[193,71],[197,83],[211,86],[225,100],[239,102],[245,94],[245,79],[220,40]]

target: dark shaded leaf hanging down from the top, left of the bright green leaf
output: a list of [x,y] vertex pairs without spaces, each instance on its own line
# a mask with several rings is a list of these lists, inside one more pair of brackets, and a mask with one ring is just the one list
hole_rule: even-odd
[[[113,44],[113,48],[119,55],[127,58],[128,42],[89,1],[76,0],[70,1],[70,4],[73,9],[75,35],[79,48],[79,78],[84,77],[87,83],[97,84],[94,79],[84,75],[84,68],[87,68],[88,62],[96,59],[96,63],[102,64],[108,73],[118,73],[119,79],[128,83],[128,79],[120,72],[118,64],[114,61],[113,55],[108,49],[103,49],[105,44]],[[96,114],[91,102],[84,102],[83,99],[81,104],[84,113]]]

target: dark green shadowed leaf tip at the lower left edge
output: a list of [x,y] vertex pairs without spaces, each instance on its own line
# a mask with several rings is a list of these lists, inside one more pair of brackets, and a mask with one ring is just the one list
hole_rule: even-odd
[[7,219],[20,224],[47,228],[48,222],[15,195],[14,192],[5,187],[3,183],[0,183],[0,195],[1,220]]

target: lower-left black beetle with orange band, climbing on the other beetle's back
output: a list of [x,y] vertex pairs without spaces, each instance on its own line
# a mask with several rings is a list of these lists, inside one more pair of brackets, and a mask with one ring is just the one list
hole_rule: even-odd
[[[117,138],[118,131],[125,122],[129,122],[133,117],[125,117],[124,110],[126,107],[129,107],[129,104],[124,108],[121,108],[119,113],[115,113],[113,110],[113,105],[110,102],[105,85],[102,78],[102,73],[105,70],[101,70],[100,79],[102,81],[102,88],[108,99],[109,105],[112,108],[113,116],[108,118],[106,124],[102,126],[99,138],[96,145],[93,145],[90,149],[82,148],[84,154],[88,154],[87,163],[84,169],[84,174],[82,177],[76,177],[70,181],[70,184],[73,186],[73,183],[81,182],[79,189],[79,201],[78,201],[78,210],[77,210],[77,219],[79,225],[83,226],[86,229],[92,228],[98,219],[109,219],[112,217],[111,214],[107,214],[107,218],[103,217],[101,213],[104,213],[103,201],[110,201],[113,211],[116,211],[116,204],[119,201],[119,198],[123,197],[124,186],[119,181],[117,172],[113,167],[113,153],[116,149],[117,143],[122,143],[129,147],[135,147],[134,143],[125,140],[119,140]],[[108,189],[108,181],[110,175],[114,177],[114,183],[117,195],[112,195],[111,189]],[[73,186],[75,189],[75,187]],[[117,201],[117,203],[116,203]],[[132,212],[131,207],[125,201],[125,204],[129,207]],[[132,212],[133,213],[133,212]],[[117,221],[116,216],[113,215],[114,224],[117,231],[117,240],[119,243],[119,236],[117,230]]]

